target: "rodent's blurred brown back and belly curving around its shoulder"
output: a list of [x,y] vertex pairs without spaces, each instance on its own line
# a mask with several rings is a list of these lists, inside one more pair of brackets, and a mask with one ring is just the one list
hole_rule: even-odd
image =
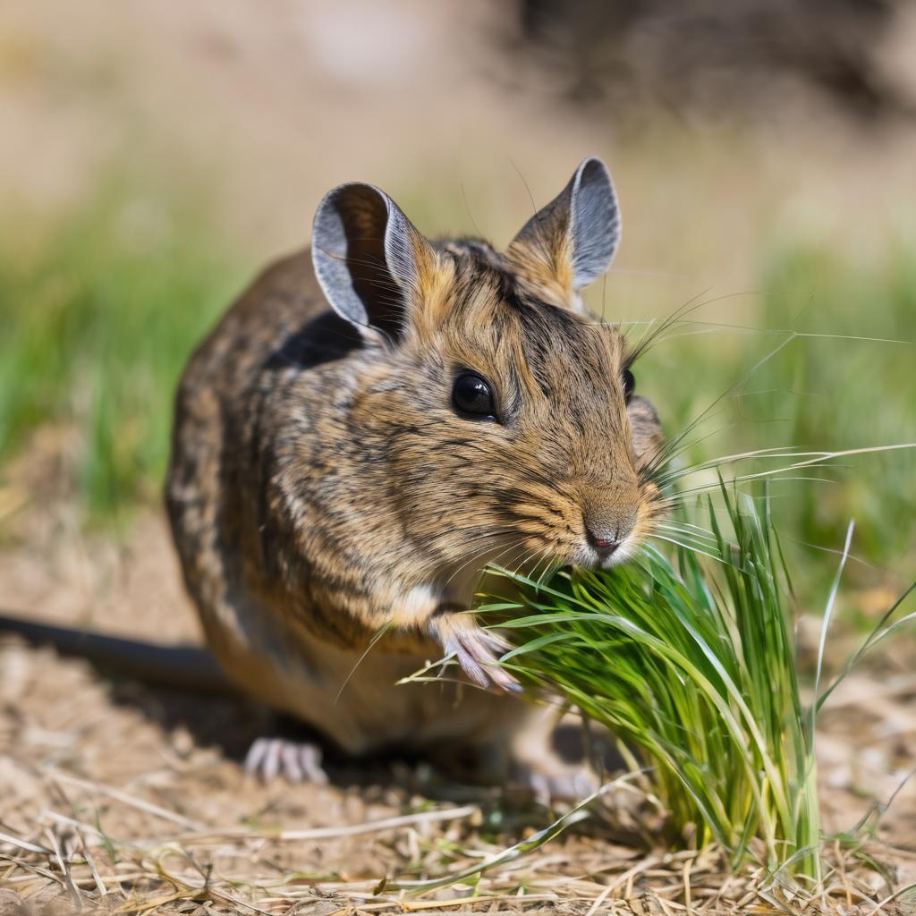
[[301,420],[313,411],[320,421],[322,406],[290,404],[285,385],[359,347],[331,311],[306,250],[268,267],[191,357],[176,398],[167,483],[185,580],[230,676],[345,750],[422,748],[466,736],[483,744],[524,719],[527,704],[453,684],[398,686],[441,649],[429,643],[425,653],[364,657],[362,643],[316,637],[316,608],[302,594],[291,600],[271,574],[268,554],[282,548],[265,539],[265,478],[283,430],[266,429],[265,416],[289,410]]

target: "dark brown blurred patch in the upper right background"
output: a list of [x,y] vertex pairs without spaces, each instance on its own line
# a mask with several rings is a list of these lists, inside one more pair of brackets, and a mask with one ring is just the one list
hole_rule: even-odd
[[780,106],[807,84],[858,114],[912,114],[882,66],[906,0],[519,0],[523,43],[578,100],[677,111]]

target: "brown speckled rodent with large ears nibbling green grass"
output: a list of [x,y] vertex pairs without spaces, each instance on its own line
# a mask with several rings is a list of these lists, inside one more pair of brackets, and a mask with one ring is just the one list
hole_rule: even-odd
[[[505,253],[430,242],[344,184],[311,252],[226,313],[180,382],[166,500],[209,645],[247,692],[353,755],[548,766],[540,714],[492,664],[506,644],[462,612],[487,562],[610,566],[664,511],[658,417],[580,291],[619,237],[594,157]],[[487,689],[396,685],[449,653]]]

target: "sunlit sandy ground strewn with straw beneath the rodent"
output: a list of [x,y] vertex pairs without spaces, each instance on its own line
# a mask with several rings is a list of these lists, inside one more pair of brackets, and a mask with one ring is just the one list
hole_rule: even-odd
[[[834,755],[833,765],[823,767],[825,782],[839,785],[849,780],[846,790],[825,786],[828,829],[851,823],[866,812],[867,791],[887,791],[892,780],[875,758],[893,747],[900,759],[900,746],[908,731],[913,731],[906,719],[911,714],[905,701],[914,692],[912,678],[907,685],[851,683],[849,693],[854,695],[843,698],[836,709],[842,715],[835,721],[828,716],[833,725],[819,736],[822,746],[828,748],[827,757]],[[169,893],[147,890],[147,885],[162,882],[163,869],[184,882],[174,887],[193,888],[194,868],[212,866],[213,874],[234,882],[226,891],[228,902],[216,898],[231,910],[250,911],[233,904],[242,898],[254,900],[260,911],[328,916],[358,905],[360,898],[371,898],[371,889],[381,878],[448,874],[473,866],[479,856],[492,855],[518,840],[520,834],[532,831],[532,816],[525,809],[514,825],[494,829],[490,824],[489,830],[482,829],[484,818],[491,818],[494,810],[508,811],[507,822],[512,812],[505,800],[499,809],[488,807],[488,801],[496,800],[492,794],[482,794],[471,801],[483,803],[483,813],[465,815],[454,823],[408,824],[331,839],[283,839],[278,837],[280,830],[340,828],[428,810],[426,795],[435,793],[423,794],[420,769],[403,764],[332,769],[335,784],[328,787],[290,786],[282,780],[266,787],[245,775],[224,750],[228,746],[231,751],[245,731],[249,735],[256,732],[263,724],[263,711],[244,704],[169,697],[131,684],[113,685],[100,680],[82,661],[60,660],[49,649],[27,649],[16,640],[0,642],[0,703],[0,746],[5,747],[0,755],[0,831],[7,839],[12,834],[31,844],[57,843],[67,852],[80,849],[72,823],[85,824],[82,833],[90,837],[88,848],[100,867],[105,862],[101,870],[106,888],[133,888],[134,898],[147,902],[169,897]],[[900,732],[890,739],[890,746],[887,738],[872,740],[895,727]],[[837,780],[837,766],[856,772]],[[466,796],[460,800],[467,801]],[[433,805],[437,810],[449,807],[442,797]],[[615,813],[619,823],[621,811]],[[533,823],[540,825],[537,819]],[[114,844],[118,865],[107,858],[103,838],[93,828]],[[898,848],[891,851],[881,843],[870,845],[871,854],[894,870],[899,885],[916,880],[914,828],[913,798],[899,796],[886,827],[878,830],[879,837],[892,838]],[[648,873],[638,872],[628,889],[635,911],[671,912],[652,901],[659,894],[666,901],[682,900],[677,894],[672,896],[671,889],[676,889],[672,878],[680,874],[678,863],[686,861],[684,857],[676,857],[672,865],[671,857],[665,859],[663,853],[647,858],[645,847],[616,844],[607,838],[606,829],[604,838],[600,829],[598,834],[573,832],[519,860],[511,871],[496,869],[482,888],[485,894],[516,895],[523,888],[530,900],[512,896],[498,905],[485,901],[483,909],[549,907],[581,916],[624,876],[618,887],[622,895],[628,870],[648,863],[643,867]],[[901,841],[911,853],[900,850]],[[24,861],[21,848],[3,838],[0,851]],[[182,857],[188,851],[193,855],[193,868]],[[189,868],[191,878],[187,878]],[[30,895],[36,903],[46,898],[65,899],[60,883],[24,868],[7,870],[7,877],[11,871],[16,872],[16,880],[5,881],[0,876],[0,887]],[[692,900],[714,903],[723,881],[721,864],[695,863]],[[277,884],[284,888],[272,889]],[[729,894],[733,901],[744,897],[746,885],[745,878],[736,881]],[[93,879],[86,875],[80,887],[83,902],[90,902]],[[856,888],[877,891],[878,896],[888,892],[887,883],[875,872],[866,873],[864,883],[853,884]],[[427,900],[441,907],[466,892],[443,890]],[[350,897],[345,896],[348,894]],[[351,899],[353,895],[356,900]],[[335,905],[321,911],[304,910],[322,900],[325,905]],[[5,902],[9,900],[0,894],[0,908]],[[170,911],[170,907],[163,905],[161,911]]]

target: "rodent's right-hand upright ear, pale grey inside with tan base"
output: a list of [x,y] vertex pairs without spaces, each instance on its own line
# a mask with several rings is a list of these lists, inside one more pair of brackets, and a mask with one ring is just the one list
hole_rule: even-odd
[[570,300],[610,267],[619,244],[614,182],[605,163],[590,156],[559,196],[529,219],[507,254],[531,281],[558,288]]

